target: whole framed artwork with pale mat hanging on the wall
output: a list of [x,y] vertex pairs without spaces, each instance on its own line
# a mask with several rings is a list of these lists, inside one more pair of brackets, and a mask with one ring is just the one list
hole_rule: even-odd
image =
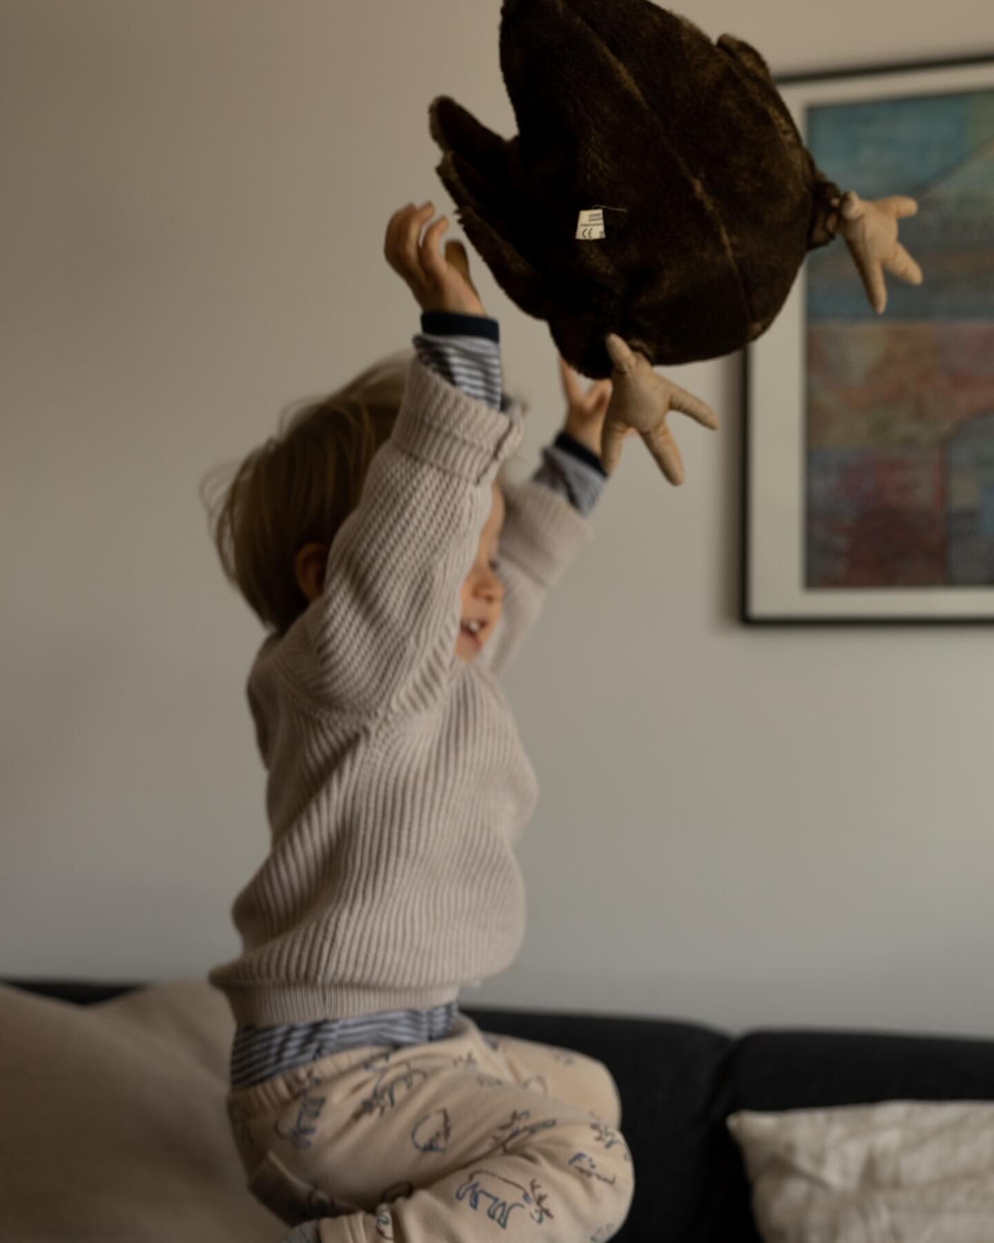
[[924,283],[877,316],[837,237],[746,351],[742,618],[994,622],[994,55],[778,86]]

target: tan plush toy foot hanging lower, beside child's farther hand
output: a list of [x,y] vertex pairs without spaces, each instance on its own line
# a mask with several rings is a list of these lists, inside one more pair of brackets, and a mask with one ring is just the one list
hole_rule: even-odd
[[609,333],[605,344],[614,363],[614,389],[600,441],[604,470],[610,475],[615,469],[625,434],[635,428],[662,474],[671,484],[682,484],[683,460],[666,426],[666,415],[680,410],[712,430],[718,426],[717,415],[700,398],[657,375],[645,354],[632,353],[621,337]]

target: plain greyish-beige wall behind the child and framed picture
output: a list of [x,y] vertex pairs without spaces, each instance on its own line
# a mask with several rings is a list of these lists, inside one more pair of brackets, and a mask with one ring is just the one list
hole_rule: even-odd
[[[498,15],[0,4],[2,973],[200,976],[235,952],[266,845],[261,629],[198,482],[410,343],[384,227],[410,199],[451,213],[435,94],[514,132]],[[994,48],[987,0],[690,15],[783,72]],[[562,420],[555,352],[471,261],[533,403],[523,472]],[[677,425],[678,491],[626,446],[509,675],[543,789],[529,930],[467,998],[990,1034],[992,634],[742,629],[737,364],[677,375],[722,431]]]

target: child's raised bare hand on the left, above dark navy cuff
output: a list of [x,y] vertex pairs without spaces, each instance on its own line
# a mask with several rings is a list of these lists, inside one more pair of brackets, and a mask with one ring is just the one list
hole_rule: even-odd
[[409,203],[390,216],[384,255],[386,262],[410,287],[422,311],[452,311],[457,314],[486,314],[470,280],[470,260],[461,241],[445,244],[445,259],[439,252],[439,237],[449,227],[442,216],[421,236],[421,226],[431,219],[431,203],[415,208]]

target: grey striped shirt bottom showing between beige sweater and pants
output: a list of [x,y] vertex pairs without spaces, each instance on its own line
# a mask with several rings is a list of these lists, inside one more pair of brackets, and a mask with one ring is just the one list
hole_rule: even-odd
[[308,1062],[365,1044],[398,1049],[444,1040],[451,1035],[457,1018],[458,1003],[449,1002],[424,1011],[384,1011],[316,1023],[240,1027],[231,1047],[231,1086],[253,1088]]

